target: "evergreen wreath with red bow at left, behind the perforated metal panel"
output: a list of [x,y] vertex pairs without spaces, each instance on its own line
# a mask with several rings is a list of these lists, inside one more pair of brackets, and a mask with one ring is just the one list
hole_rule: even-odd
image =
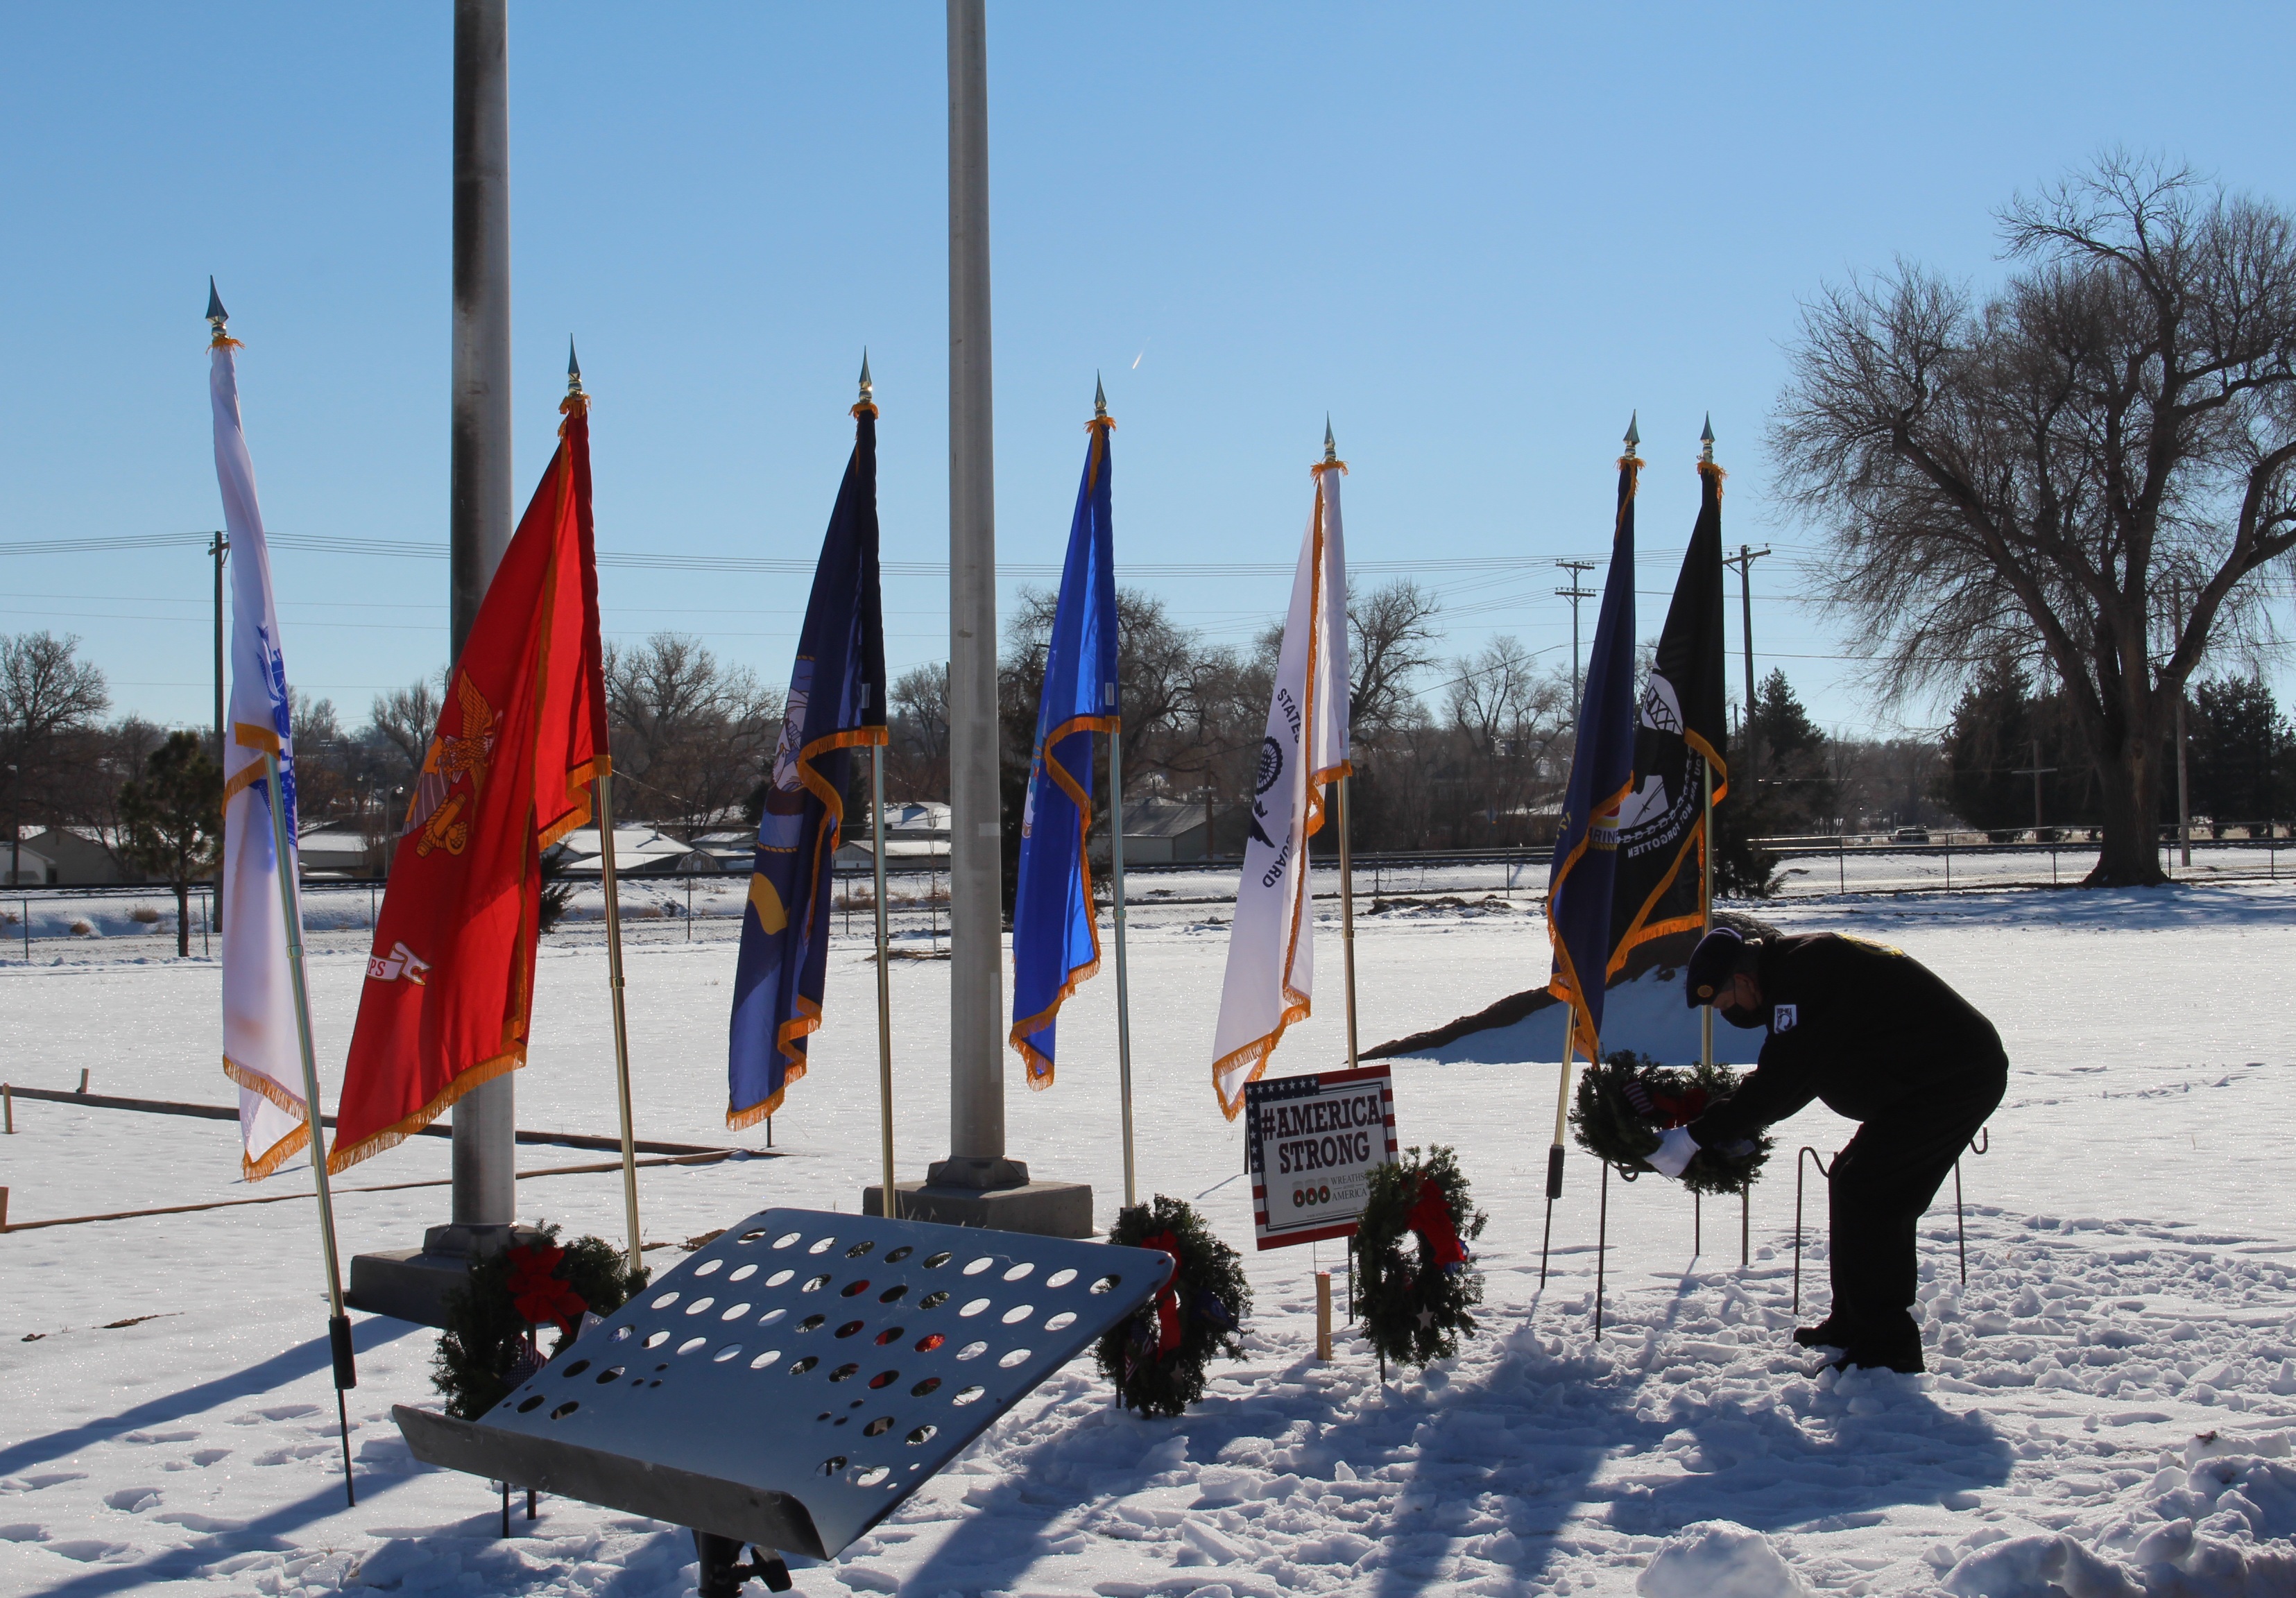
[[[604,1238],[558,1247],[556,1221],[542,1228],[542,1242],[471,1260],[466,1286],[445,1295],[445,1329],[432,1355],[432,1387],[445,1396],[445,1412],[482,1417],[565,1352],[583,1311],[611,1316],[647,1277]],[[535,1345],[544,1322],[558,1327],[549,1357]]]

